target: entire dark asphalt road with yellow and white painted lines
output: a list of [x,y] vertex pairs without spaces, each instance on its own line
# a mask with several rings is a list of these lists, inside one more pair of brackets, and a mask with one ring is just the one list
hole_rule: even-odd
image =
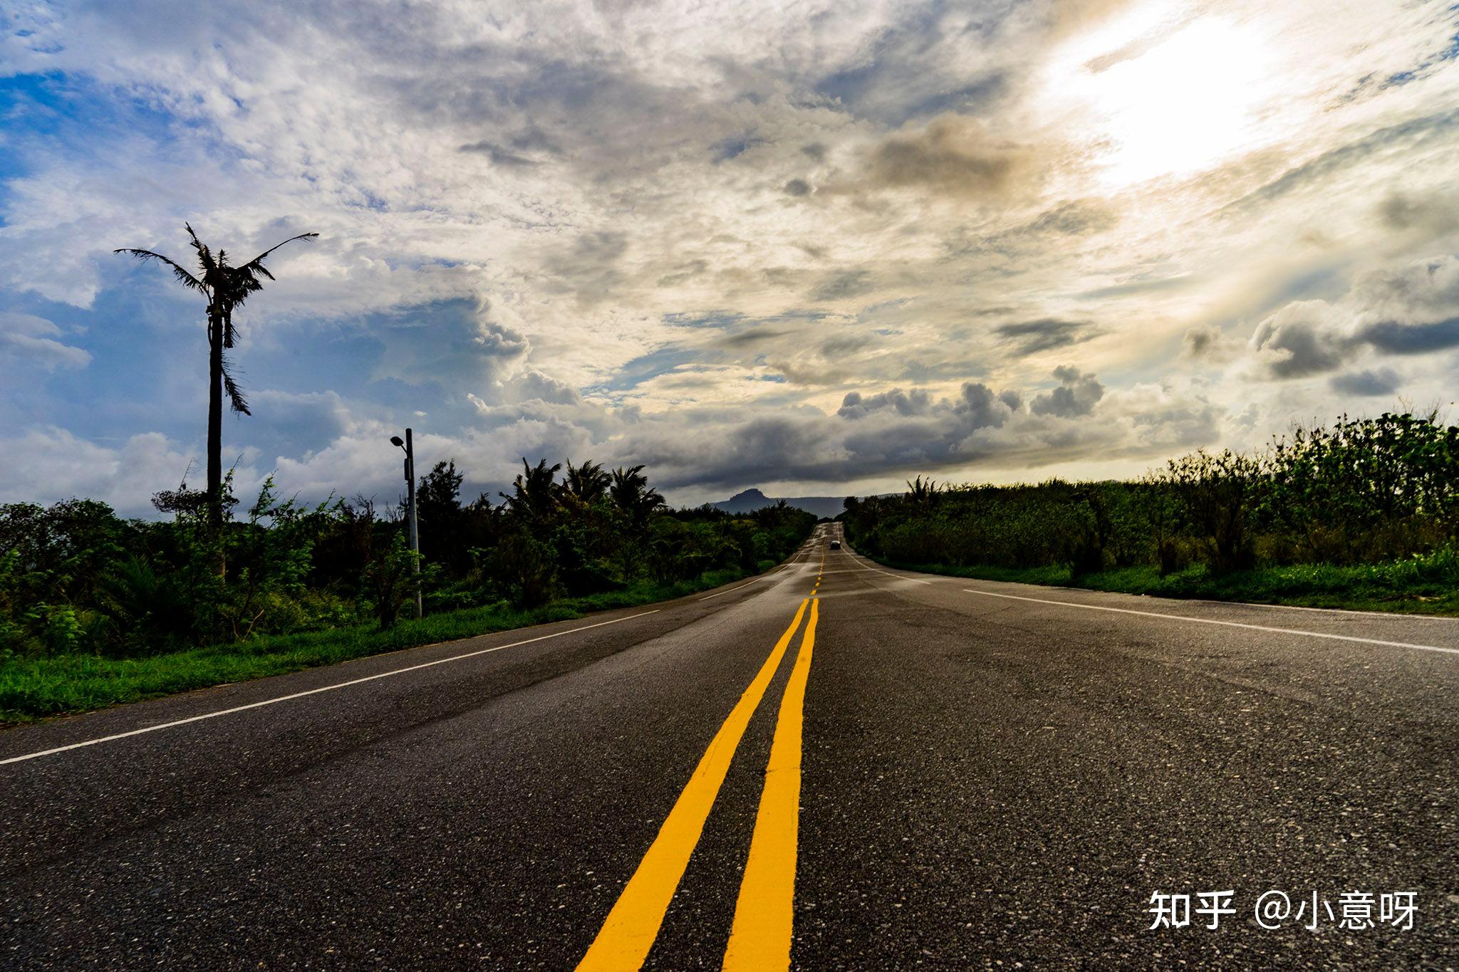
[[[0,733],[0,966],[1459,965],[1459,621],[824,539],[673,603]],[[1157,892],[1188,925],[1150,927]]]

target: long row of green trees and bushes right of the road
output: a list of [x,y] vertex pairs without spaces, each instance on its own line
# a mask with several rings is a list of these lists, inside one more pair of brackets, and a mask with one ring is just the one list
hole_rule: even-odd
[[[846,536],[900,564],[1198,568],[1459,564],[1459,427],[1342,417],[1256,453],[1199,450],[1132,481],[943,488],[846,500]],[[1459,573],[1456,573],[1459,581]]]

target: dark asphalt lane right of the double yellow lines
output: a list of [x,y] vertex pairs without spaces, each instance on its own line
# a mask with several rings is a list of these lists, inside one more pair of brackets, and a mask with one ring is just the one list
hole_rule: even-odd
[[[839,576],[880,590],[824,596],[797,902],[816,968],[1453,965],[1453,656]],[[1412,628],[1453,644],[1453,622]],[[1227,887],[1247,909],[1221,930],[1147,930],[1153,890]],[[1418,889],[1430,911],[1263,931],[1268,887]]]

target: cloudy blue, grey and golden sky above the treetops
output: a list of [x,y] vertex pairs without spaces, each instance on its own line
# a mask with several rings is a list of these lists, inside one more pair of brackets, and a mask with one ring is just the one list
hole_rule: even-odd
[[[1131,477],[1452,409],[1453,0],[0,3],[0,503]],[[188,472],[191,468],[191,474]]]

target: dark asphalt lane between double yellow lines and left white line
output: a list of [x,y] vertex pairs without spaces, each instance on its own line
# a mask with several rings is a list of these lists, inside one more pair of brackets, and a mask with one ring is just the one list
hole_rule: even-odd
[[[753,603],[711,602],[638,644],[592,647],[568,673],[519,672],[576,657],[560,641],[534,648],[540,659],[486,656],[461,710],[457,695],[438,710],[429,685],[411,695],[387,679],[331,694],[353,699],[344,713],[271,707],[6,767],[9,941],[58,966],[131,955],[133,938],[139,960],[306,949],[341,965],[379,955],[410,965],[448,960],[460,941],[473,955],[483,941],[493,959],[530,956],[541,949],[522,946],[530,938],[554,943],[549,968],[570,966],[592,928],[576,914],[560,921],[565,896],[584,909],[611,904],[623,880],[613,866],[642,855],[804,599],[810,583],[782,573]],[[461,679],[473,665],[444,667]],[[357,745],[318,739],[350,717],[401,726]],[[178,915],[188,924],[172,925]],[[460,941],[436,941],[438,924]]]

